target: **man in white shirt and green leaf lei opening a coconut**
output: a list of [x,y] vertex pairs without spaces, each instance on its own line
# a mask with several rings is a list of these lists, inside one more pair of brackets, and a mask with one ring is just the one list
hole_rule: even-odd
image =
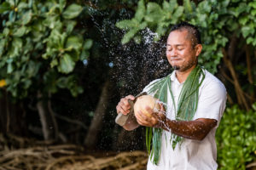
[[[140,111],[130,116],[123,126],[126,130],[154,127],[153,150],[148,158],[148,170],[212,170],[217,169],[215,132],[223,115],[226,90],[218,78],[197,65],[201,54],[200,32],[195,26],[183,22],[172,27],[167,38],[166,57],[174,71],[168,77],[150,82],[143,91],[166,99],[166,111]],[[165,89],[160,90],[160,89]],[[156,91],[152,89],[158,89]],[[162,92],[167,92],[162,93]],[[157,94],[157,93],[156,93]],[[116,110],[128,114],[128,99],[120,99]],[[160,141],[160,147],[155,142]],[[159,150],[156,151],[156,150]],[[150,158],[151,157],[151,158]]]

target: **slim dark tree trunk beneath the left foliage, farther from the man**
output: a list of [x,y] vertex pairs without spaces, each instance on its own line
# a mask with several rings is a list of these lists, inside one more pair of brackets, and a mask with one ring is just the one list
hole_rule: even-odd
[[55,116],[51,116],[50,112],[47,110],[47,104],[44,101],[43,94],[38,91],[38,114],[42,124],[42,131],[44,134],[44,140],[54,140],[57,139],[57,124],[55,121]]

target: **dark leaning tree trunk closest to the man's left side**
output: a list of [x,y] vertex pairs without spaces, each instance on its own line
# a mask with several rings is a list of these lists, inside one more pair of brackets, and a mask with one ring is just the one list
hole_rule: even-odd
[[103,116],[105,116],[106,109],[108,107],[109,83],[110,82],[108,81],[105,82],[102,88],[101,97],[96,106],[96,111],[94,113],[93,119],[90,122],[90,127],[86,134],[86,138],[84,139],[85,146],[90,149],[93,149],[96,147],[96,139],[97,139],[98,133],[102,129],[102,119],[103,119]]

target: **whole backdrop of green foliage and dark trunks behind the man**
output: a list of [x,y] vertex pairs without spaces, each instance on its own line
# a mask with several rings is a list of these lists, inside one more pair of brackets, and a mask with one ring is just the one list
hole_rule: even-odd
[[[172,71],[171,26],[201,30],[200,63],[228,91],[217,132],[219,169],[256,161],[256,1],[0,0],[0,133],[144,150],[144,128],[114,123],[115,105]],[[0,139],[0,150],[9,145]]]

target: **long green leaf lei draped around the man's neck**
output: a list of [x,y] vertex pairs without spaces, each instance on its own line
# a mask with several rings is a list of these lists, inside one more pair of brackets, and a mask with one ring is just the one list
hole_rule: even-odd
[[[175,112],[176,120],[191,121],[195,116],[195,111],[198,105],[199,88],[204,78],[204,71],[202,70],[201,66],[197,65],[195,69],[190,72],[189,77],[183,83],[183,88],[178,97],[177,110],[172,94],[171,74],[150,84],[148,86],[148,94],[154,94],[154,98],[160,99],[161,102],[167,104],[167,91],[169,91],[172,96],[174,110],[177,111]],[[164,106],[165,109],[167,109],[166,105]],[[153,159],[154,164],[157,164],[160,159],[162,131],[163,130],[160,128],[146,127],[147,150],[148,154],[150,154],[150,160],[152,161]],[[183,143],[183,138],[172,133],[171,141],[172,149],[174,150],[177,144],[181,145]]]

